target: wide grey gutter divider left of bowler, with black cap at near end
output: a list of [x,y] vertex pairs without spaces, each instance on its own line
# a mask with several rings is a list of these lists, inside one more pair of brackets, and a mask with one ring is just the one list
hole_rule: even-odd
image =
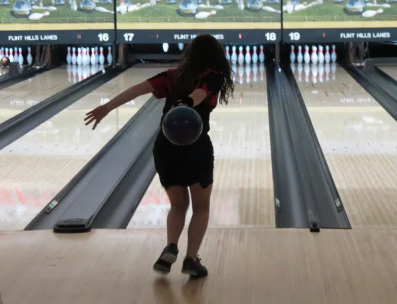
[[96,214],[131,164],[145,152],[153,131],[157,132],[157,116],[161,115],[161,109],[162,102],[150,98],[25,230],[53,229],[62,233],[89,231]]

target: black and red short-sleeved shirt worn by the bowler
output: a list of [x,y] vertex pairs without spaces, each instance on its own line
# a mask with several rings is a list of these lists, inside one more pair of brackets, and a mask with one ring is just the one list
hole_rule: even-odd
[[[168,69],[148,79],[154,89],[153,95],[157,99],[165,98],[163,116],[161,118],[160,125],[163,121],[165,113],[168,112],[172,102],[174,102],[169,100],[170,94],[177,80],[175,78],[174,70],[175,69]],[[218,104],[218,97],[222,88],[222,83],[223,78],[221,73],[208,69],[201,75],[194,88],[192,88],[192,92],[195,89],[202,89],[207,93],[207,97],[199,105],[194,107],[203,120],[203,133],[207,133],[209,131],[209,113]],[[178,96],[178,99],[182,99],[183,97],[186,96]]]

